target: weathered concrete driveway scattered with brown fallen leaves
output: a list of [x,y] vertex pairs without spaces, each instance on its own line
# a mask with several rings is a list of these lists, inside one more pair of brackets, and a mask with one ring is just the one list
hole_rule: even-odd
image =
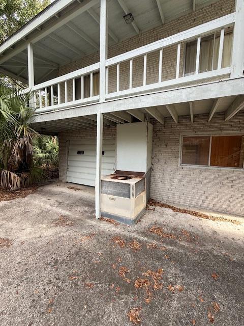
[[94,188],[59,182],[0,203],[1,326],[244,324],[244,224],[94,212]]

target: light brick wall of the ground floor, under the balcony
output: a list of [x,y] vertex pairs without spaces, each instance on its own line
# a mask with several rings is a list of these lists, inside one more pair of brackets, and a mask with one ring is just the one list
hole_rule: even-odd
[[[150,197],[169,204],[199,207],[212,211],[243,215],[244,170],[179,166],[181,134],[244,134],[244,112],[229,122],[224,114],[216,114],[207,122],[207,115],[179,117],[176,125],[172,118],[165,126],[154,124]],[[95,138],[96,131],[66,131],[59,134],[59,178],[66,181],[67,140]],[[104,138],[115,138],[116,129],[104,130]]]

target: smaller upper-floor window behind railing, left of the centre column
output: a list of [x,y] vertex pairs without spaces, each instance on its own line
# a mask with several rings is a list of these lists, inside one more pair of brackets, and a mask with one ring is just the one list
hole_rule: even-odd
[[[90,75],[84,76],[84,98],[90,97]],[[93,74],[93,96],[99,95],[99,72]],[[75,99],[81,99],[81,78],[75,79]]]

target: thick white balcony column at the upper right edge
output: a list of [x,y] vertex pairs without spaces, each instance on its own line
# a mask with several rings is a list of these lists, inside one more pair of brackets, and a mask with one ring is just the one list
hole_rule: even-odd
[[244,0],[235,2],[235,25],[233,33],[231,77],[243,76],[244,64]]

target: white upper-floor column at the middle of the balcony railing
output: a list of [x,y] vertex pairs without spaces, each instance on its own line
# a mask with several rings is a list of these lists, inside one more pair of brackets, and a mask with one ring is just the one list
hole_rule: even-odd
[[107,0],[101,0],[100,6],[100,102],[105,101],[106,63],[108,57],[108,18]]

